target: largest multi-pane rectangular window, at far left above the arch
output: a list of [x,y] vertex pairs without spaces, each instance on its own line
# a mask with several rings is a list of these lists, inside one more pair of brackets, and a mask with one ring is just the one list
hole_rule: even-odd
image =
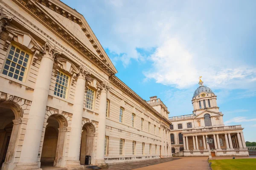
[[3,74],[23,81],[28,63],[29,54],[12,45],[3,67]]

